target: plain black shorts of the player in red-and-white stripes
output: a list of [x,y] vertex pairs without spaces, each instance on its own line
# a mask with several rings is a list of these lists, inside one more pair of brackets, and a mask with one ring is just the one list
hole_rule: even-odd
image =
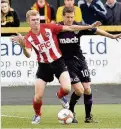
[[45,82],[51,82],[54,79],[54,75],[59,79],[61,73],[64,71],[67,71],[67,66],[64,63],[63,58],[59,58],[49,64],[38,63],[36,78],[40,78]]

